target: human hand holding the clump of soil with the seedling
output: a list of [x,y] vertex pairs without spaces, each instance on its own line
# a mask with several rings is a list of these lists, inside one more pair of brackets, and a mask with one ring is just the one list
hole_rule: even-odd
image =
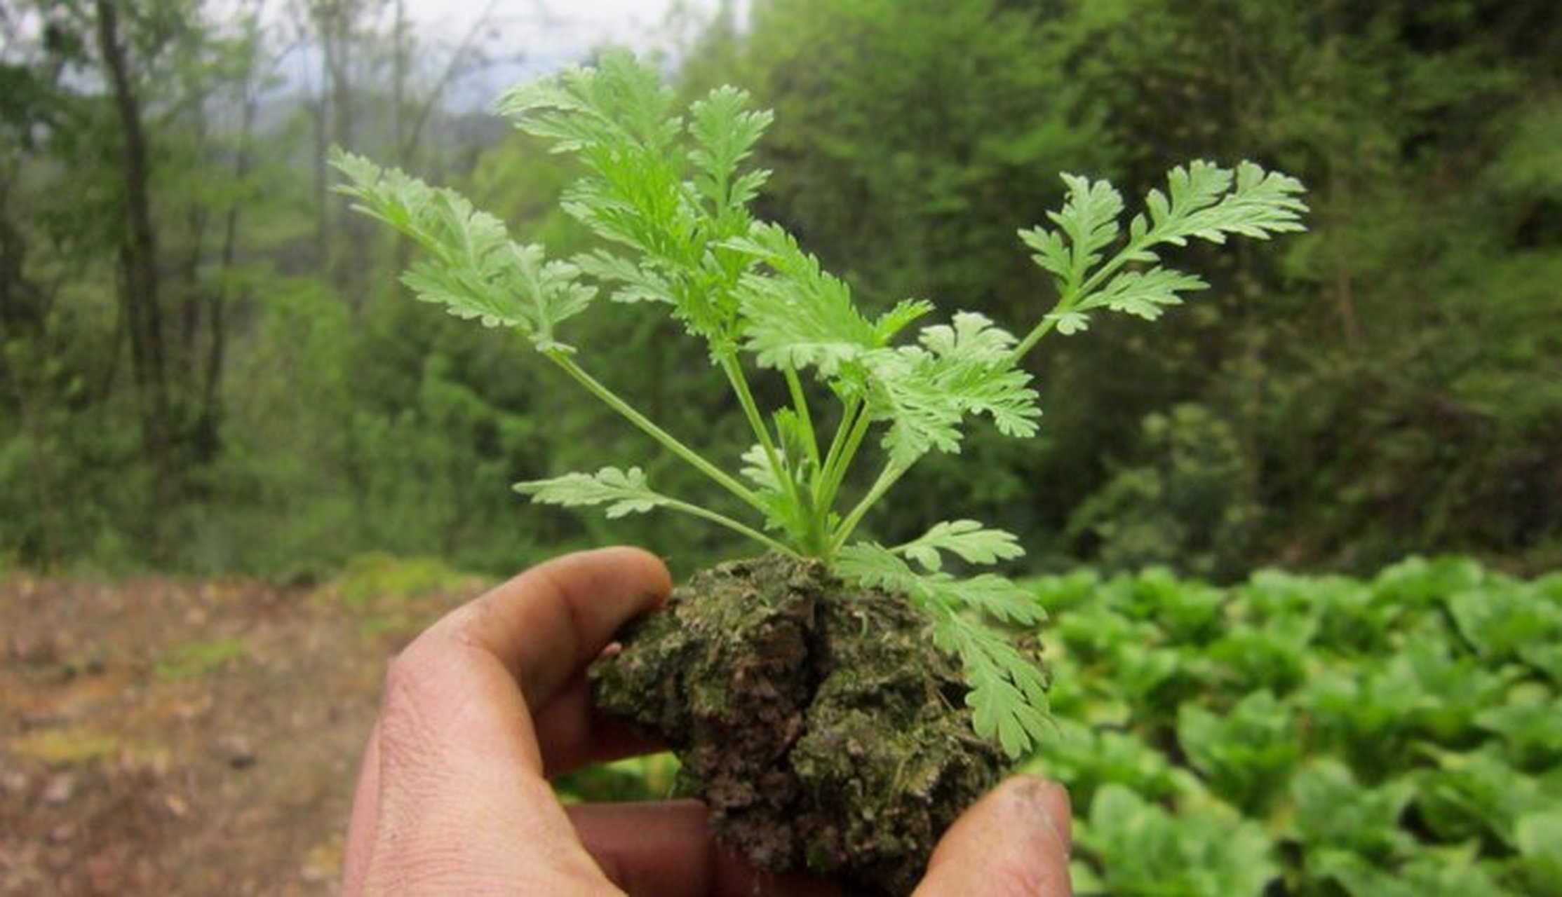
[[[590,707],[584,671],[672,590],[636,549],[570,554],[451,612],[386,674],[353,797],[345,894],[806,895],[715,846],[694,800],[562,807],[550,775],[651,746]],[[1068,797],[1014,777],[939,842],[917,894],[1064,897]]]

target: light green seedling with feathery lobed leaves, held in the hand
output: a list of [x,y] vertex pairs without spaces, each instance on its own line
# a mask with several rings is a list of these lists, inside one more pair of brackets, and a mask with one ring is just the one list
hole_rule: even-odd
[[[1176,168],[1167,193],[1150,192],[1147,214],[1129,222],[1126,243],[1103,262],[1103,250],[1118,237],[1122,198],[1109,184],[1070,176],[1070,200],[1051,215],[1059,231],[1022,234],[1057,279],[1051,315],[1017,340],[986,315],[956,312],[950,324],[923,326],[915,343],[893,345],[900,331],[931,310],[928,303],[901,303],[870,320],[847,284],[792,234],[751,217],[747,203],[767,173],[744,172],[740,162],[772,115],[750,109],[745,92],[717,87],[689,106],[684,119],[651,67],[609,53],[592,69],[569,69],[509,90],[498,109],[528,134],[551,140],[555,151],[580,159],[586,175],[565,190],[562,207],[608,243],[631,250],[631,257],[594,250],[578,264],[545,261],[540,245],[515,243],[497,218],[455,192],[339,151],[331,162],[348,181],[341,192],[426,250],[405,278],[419,298],[456,317],[517,329],[581,387],[761,519],[751,526],[656,491],[639,466],[570,473],[515,488],[540,504],[606,505],[608,518],[679,510],[772,549],[834,562],[858,582],[909,594],[929,615],[939,647],[965,666],[976,730],[997,738],[1011,757],[1023,755],[1045,730],[1047,682],[982,619],[1031,624],[1040,608],[997,574],[959,580],[940,569],[940,551],[967,563],[1015,558],[1023,554],[1015,537],[975,521],[936,524],[898,549],[925,574],[912,573],[895,551],[848,540],[923,456],[959,451],[967,418],[986,415],[1009,437],[1036,434],[1037,395],[1018,362],[1054,321],[1064,321],[1059,329],[1065,332],[1082,329],[1084,314],[1095,307],[1157,317],[1151,309],[1175,296],[1156,290],[1203,282],[1156,267],[1156,246],[1298,231],[1306,211],[1296,198],[1301,184],[1246,162],[1236,172],[1207,162]],[[576,360],[590,353],[555,328],[598,292],[586,278],[617,284],[619,301],[667,306],[703,340],[758,440],[742,459],[748,484],[686,446]],[[758,368],[784,378],[790,402],[769,421],[740,351]],[[828,448],[817,435],[825,421],[815,423],[804,373],[822,381],[839,404]],[[837,510],[842,482],[875,424],[884,426],[883,470],[850,510]]]

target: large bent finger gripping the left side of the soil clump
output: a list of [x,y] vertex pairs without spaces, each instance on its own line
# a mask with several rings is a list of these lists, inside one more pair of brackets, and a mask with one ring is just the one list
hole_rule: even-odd
[[545,705],[667,590],[650,554],[581,552],[526,571],[409,644],[386,675],[366,888],[431,880],[417,877],[458,891],[606,886],[542,777],[528,700]]

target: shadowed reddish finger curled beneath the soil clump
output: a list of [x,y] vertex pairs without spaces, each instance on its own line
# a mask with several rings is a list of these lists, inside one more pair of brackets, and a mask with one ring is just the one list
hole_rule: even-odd
[[833,897],[803,874],[759,872],[719,847],[698,800],[581,803],[569,808],[581,844],[614,885],[636,897]]

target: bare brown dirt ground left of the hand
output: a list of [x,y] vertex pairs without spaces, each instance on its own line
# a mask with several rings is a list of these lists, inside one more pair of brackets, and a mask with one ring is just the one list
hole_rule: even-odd
[[0,894],[333,892],[384,661],[470,594],[0,580]]

